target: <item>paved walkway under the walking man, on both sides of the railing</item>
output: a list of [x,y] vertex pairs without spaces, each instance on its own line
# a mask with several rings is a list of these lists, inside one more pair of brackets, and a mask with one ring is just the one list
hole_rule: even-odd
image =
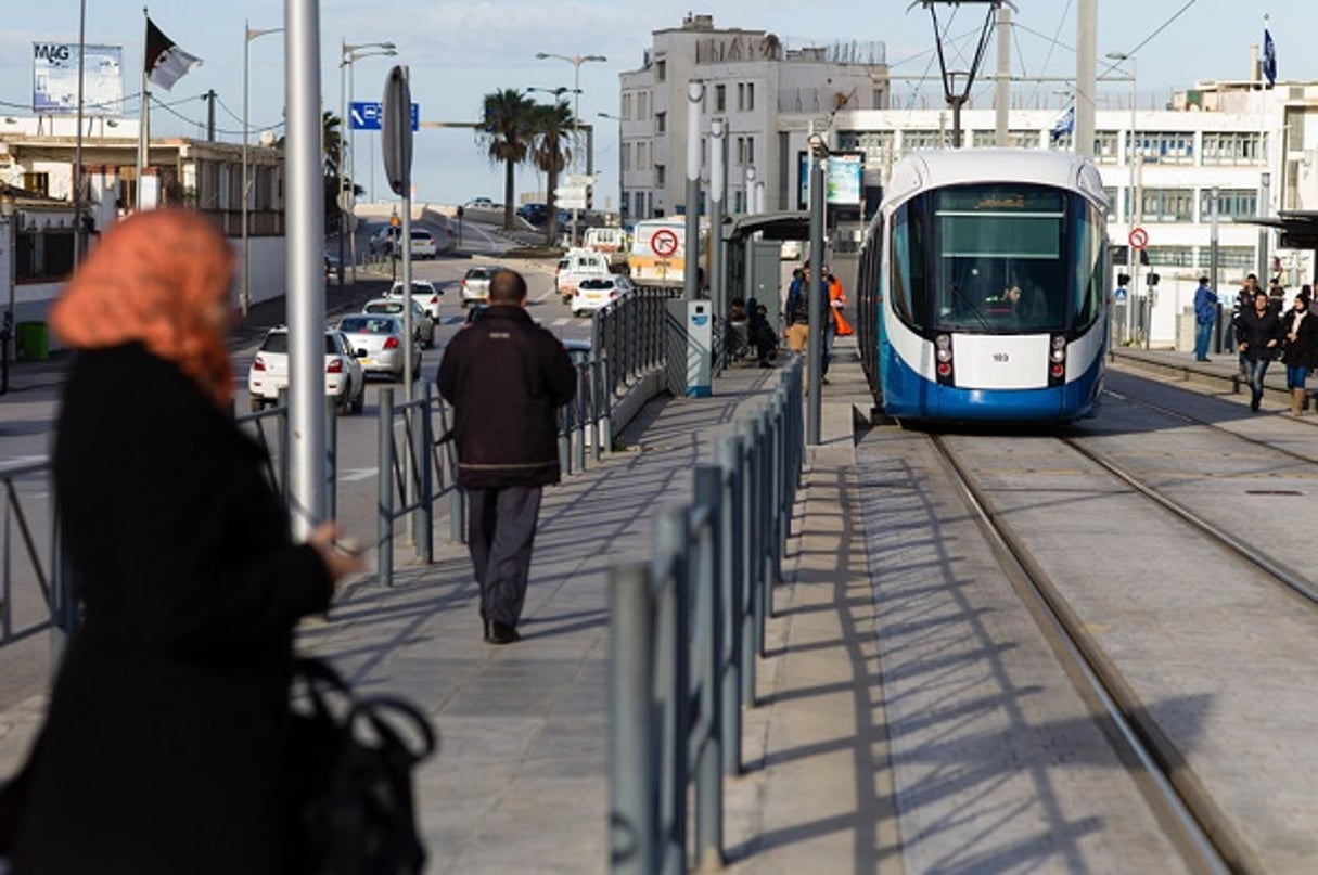
[[[824,394],[826,443],[809,452],[799,506],[826,518],[824,530],[837,524],[838,469],[851,459],[853,402],[863,402],[854,353],[840,349],[837,357]],[[655,399],[623,432],[627,451],[546,490],[521,643],[481,642],[465,548],[447,542],[438,546],[434,564],[399,568],[393,589],[351,586],[328,623],[306,626],[304,646],[331,656],[364,692],[409,696],[434,717],[442,747],[418,780],[432,854],[428,871],[606,871],[608,571],[650,556],[655,509],[689,501],[692,468],[713,461],[717,439],[767,403],[779,378],[778,369],[738,365],[714,381],[710,398]],[[812,522],[799,518],[793,531],[811,532]],[[838,534],[820,536],[834,555]],[[784,573],[804,573],[799,569],[815,552],[793,538]],[[855,564],[849,573],[863,586],[863,561]],[[832,576],[833,569],[809,573]],[[778,692],[808,677],[829,676],[842,685],[862,675],[861,626],[846,619],[847,611],[841,618],[811,615],[789,586],[780,586],[775,598],[805,614],[784,611],[772,621],[776,655],[759,667],[766,704],[747,713],[749,772],[728,783],[725,846],[733,851],[730,862],[742,861],[746,871],[850,871],[861,862],[850,832],[873,830],[874,812],[855,806],[842,791],[855,780],[845,750],[841,756],[828,747],[817,755],[809,750],[811,738],[824,742],[846,733],[851,694],[829,700]],[[817,647],[820,638],[838,634],[854,646]],[[805,642],[799,651],[797,640]],[[866,738],[875,731],[867,727]],[[797,751],[804,745],[805,754],[779,767],[775,750],[783,745]],[[782,789],[782,804],[763,804],[770,784]],[[800,805],[801,799],[812,804]],[[842,821],[820,828],[816,820],[829,806],[840,809]],[[829,858],[847,863],[821,868]]]

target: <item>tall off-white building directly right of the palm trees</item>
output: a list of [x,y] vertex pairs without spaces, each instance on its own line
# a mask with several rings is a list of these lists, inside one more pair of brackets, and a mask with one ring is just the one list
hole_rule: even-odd
[[[687,210],[687,83],[705,84],[700,111],[702,190],[709,181],[710,120],[722,117],[728,144],[726,204],[746,208],[747,184],[787,190],[786,115],[809,113],[820,127],[840,109],[887,105],[882,43],[795,49],[764,30],[716,29],[713,16],[688,14],[680,28],[655,30],[642,67],[621,74],[621,213],[625,220]],[[747,181],[747,170],[754,177]],[[793,173],[793,171],[792,171]]]

